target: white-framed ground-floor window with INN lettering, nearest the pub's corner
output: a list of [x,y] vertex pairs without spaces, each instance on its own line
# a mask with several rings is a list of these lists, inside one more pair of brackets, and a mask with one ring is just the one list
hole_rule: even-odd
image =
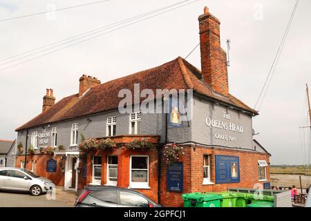
[[130,187],[149,189],[149,156],[132,155],[130,164]]

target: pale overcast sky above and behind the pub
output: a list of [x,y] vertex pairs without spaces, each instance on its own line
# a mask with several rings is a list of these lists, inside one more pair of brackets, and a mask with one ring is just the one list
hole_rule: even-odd
[[[92,1],[0,0],[0,20]],[[0,21],[0,60],[179,1],[111,0],[55,15]],[[14,140],[15,128],[41,113],[46,88],[54,88],[59,101],[78,92],[82,74],[105,82],[186,57],[199,42],[198,16],[204,6],[221,21],[223,48],[227,39],[232,42],[230,93],[254,107],[294,3],[200,0],[6,70],[1,69],[17,61],[0,65],[0,139]],[[260,133],[255,138],[272,153],[272,164],[303,163],[298,144],[300,119],[307,114],[301,105],[305,104],[305,84],[311,84],[310,9],[310,0],[300,1],[260,115],[253,120]],[[200,69],[199,48],[187,60]]]

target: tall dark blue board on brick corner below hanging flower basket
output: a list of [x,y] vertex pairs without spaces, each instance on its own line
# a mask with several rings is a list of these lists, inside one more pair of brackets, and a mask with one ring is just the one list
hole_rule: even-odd
[[167,167],[167,190],[182,192],[184,186],[184,170],[182,162]]

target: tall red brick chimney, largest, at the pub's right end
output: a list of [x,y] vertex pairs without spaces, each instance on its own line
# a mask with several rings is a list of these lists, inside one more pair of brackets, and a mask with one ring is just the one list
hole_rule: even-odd
[[227,54],[220,46],[220,21],[204,8],[198,17],[202,78],[216,93],[229,95]]

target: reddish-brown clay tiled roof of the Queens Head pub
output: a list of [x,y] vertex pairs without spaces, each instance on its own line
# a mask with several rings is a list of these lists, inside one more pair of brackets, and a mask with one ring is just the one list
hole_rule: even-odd
[[95,86],[88,90],[82,97],[79,97],[78,94],[65,97],[47,111],[44,111],[44,113],[37,115],[30,122],[17,128],[16,131],[51,122],[59,122],[64,119],[73,119],[75,117],[117,109],[119,102],[123,99],[118,97],[119,91],[124,88],[133,91],[135,83],[140,84],[140,90],[144,88],[150,88],[152,90],[164,88],[194,89],[195,93],[257,114],[256,111],[249,108],[239,99],[236,99],[233,95],[223,97],[213,93],[209,86],[200,78],[200,70],[181,57],[178,57],[156,68],[143,70],[133,75]]

